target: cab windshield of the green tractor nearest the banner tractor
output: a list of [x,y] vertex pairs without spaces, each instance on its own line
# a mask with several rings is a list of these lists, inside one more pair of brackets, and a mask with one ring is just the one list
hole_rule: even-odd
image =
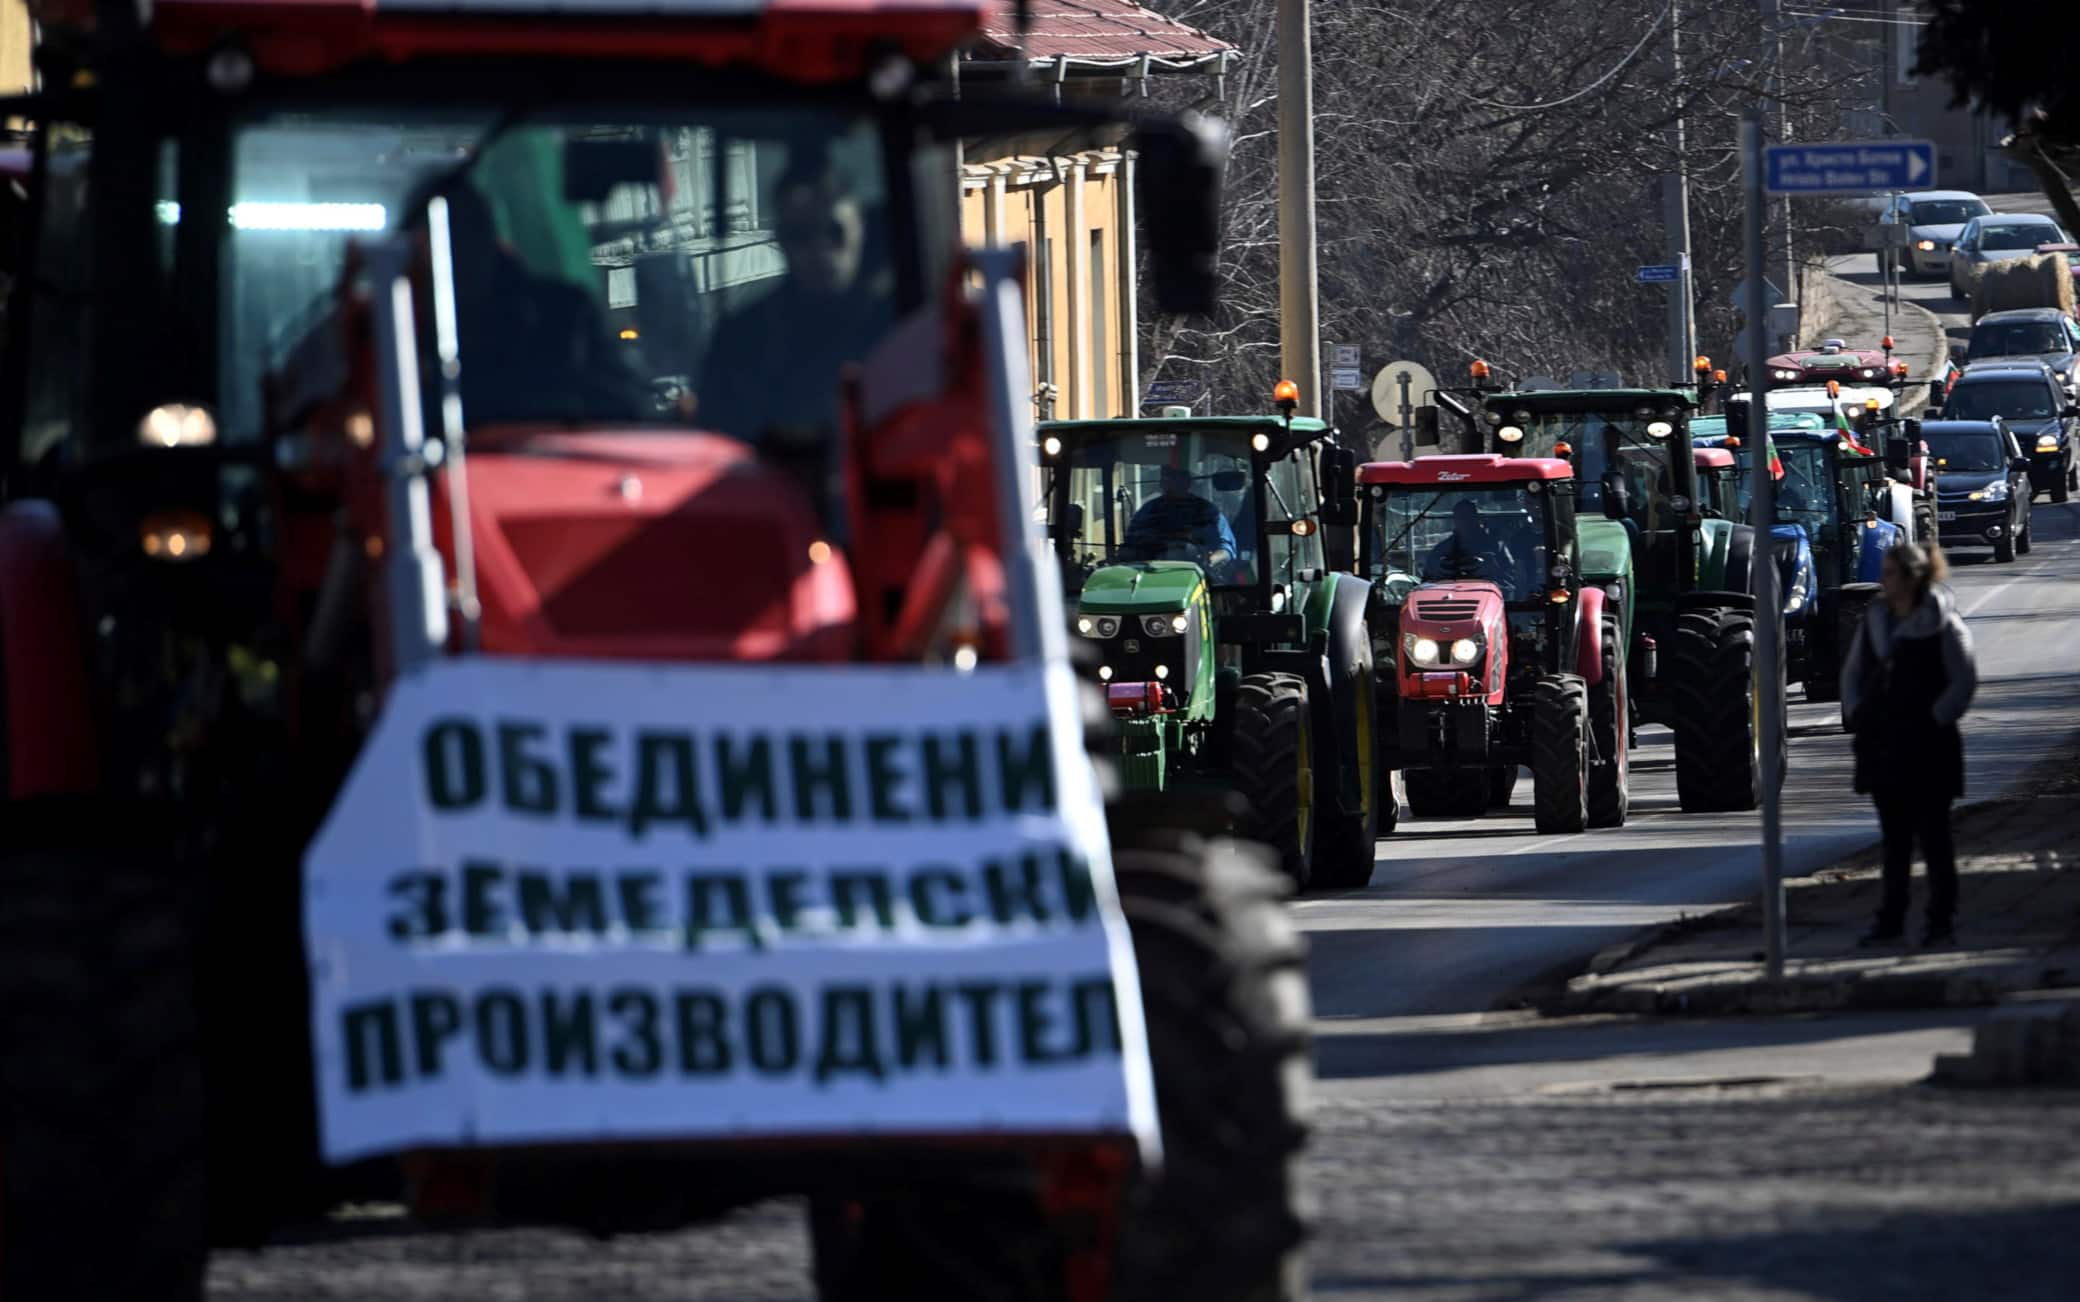
[[[1258,539],[1250,501],[1248,428],[1134,428],[1111,437],[1069,437],[1067,520],[1071,553],[1082,568],[1111,562],[1194,562],[1215,587],[1256,582]],[[1265,474],[1269,520],[1310,516],[1312,493],[1302,483],[1300,455]],[[1059,510],[1059,495],[1048,495]],[[1275,576],[1312,568],[1319,535],[1271,535],[1265,541]]]

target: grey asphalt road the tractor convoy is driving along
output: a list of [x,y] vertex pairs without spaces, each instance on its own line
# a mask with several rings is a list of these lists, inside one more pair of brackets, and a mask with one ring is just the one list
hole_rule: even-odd
[[[1868,256],[1843,264],[1845,279],[1876,285],[1868,268]],[[1905,293],[1964,327],[1943,281],[1909,281]],[[2013,564],[1986,551],[1953,555],[1951,587],[1982,676],[1966,718],[1968,799],[2018,788],[2045,755],[2080,740],[2080,503],[2038,499],[2034,535],[2034,551]],[[1785,782],[1793,874],[1876,838],[1868,801],[1849,790],[1849,738],[1837,720],[1837,705],[1808,705],[1793,688]],[[1633,815],[1620,830],[1541,836],[1520,780],[1508,813],[1404,819],[1379,842],[1364,890],[1298,903],[1325,1096],[1460,1090],[1435,1019],[1491,1009],[1641,926],[1753,896],[1760,813],[1681,813],[1668,730],[1641,728],[1639,740]]]

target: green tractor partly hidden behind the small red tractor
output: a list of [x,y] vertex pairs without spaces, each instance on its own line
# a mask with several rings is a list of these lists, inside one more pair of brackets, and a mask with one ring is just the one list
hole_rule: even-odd
[[[1631,630],[1633,718],[1668,724],[1685,811],[1762,803],[1756,530],[1706,512],[1683,389],[1483,393],[1489,451],[1575,466],[1583,582]],[[1608,524],[1616,528],[1610,528]],[[1783,684],[1776,684],[1778,699]],[[1783,765],[1778,765],[1783,772]]]

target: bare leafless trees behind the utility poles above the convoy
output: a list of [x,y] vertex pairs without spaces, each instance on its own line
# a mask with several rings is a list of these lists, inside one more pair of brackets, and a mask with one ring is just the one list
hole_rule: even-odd
[[[1683,79],[1668,23],[1681,4]],[[1260,410],[1279,362],[1275,0],[1154,0],[1242,50],[1219,316],[1146,316],[1146,379],[1204,379]],[[1739,110],[1764,85],[1753,0],[1352,0],[1315,6],[1323,331],[1367,366],[1473,358],[1502,374],[1614,370],[1672,383],[1660,262],[1668,125],[1687,119],[1699,337],[1728,341],[1739,279]],[[1785,42],[1780,106],[1835,131],[1843,60]],[[1346,406],[1344,414],[1350,414]],[[1369,420],[1369,418],[1367,418]]]

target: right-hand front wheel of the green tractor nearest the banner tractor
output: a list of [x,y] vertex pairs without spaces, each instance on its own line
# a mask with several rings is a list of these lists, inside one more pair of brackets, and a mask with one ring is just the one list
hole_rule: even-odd
[[1250,836],[1271,847],[1294,888],[1315,878],[1315,736],[1306,680],[1250,674],[1236,688],[1236,788],[1250,801]]

